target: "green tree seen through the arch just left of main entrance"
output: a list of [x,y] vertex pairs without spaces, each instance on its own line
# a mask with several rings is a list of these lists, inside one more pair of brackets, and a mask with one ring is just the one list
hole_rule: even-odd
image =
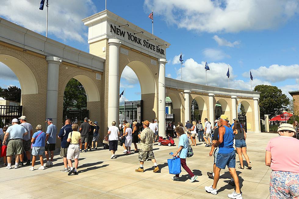
[[63,118],[67,113],[67,108],[74,107],[82,109],[87,107],[87,97],[82,84],[72,78],[64,89],[63,95]]

